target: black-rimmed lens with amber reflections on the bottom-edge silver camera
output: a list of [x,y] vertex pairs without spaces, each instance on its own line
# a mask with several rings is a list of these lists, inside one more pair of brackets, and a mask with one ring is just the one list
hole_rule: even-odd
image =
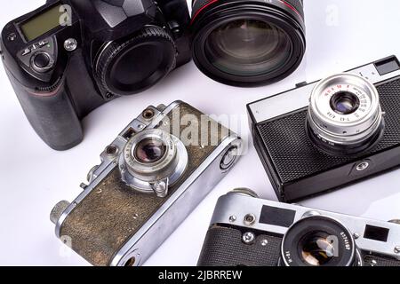
[[286,266],[353,266],[360,260],[348,229],[323,216],[292,225],[284,235],[281,258]]

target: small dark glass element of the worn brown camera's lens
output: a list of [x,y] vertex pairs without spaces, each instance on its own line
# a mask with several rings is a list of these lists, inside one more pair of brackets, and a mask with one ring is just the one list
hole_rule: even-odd
[[164,157],[166,146],[161,139],[146,138],[140,141],[134,153],[139,162],[154,163]]

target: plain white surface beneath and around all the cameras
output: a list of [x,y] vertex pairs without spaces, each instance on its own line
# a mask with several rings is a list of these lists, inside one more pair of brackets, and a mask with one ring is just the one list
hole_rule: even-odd
[[[0,26],[41,4],[44,1],[4,1]],[[52,151],[36,136],[0,67],[0,264],[87,265],[56,239],[49,213],[57,201],[72,201],[81,193],[78,185],[100,162],[104,147],[148,105],[182,99],[206,114],[246,115],[246,103],[292,89],[305,79],[311,82],[388,55],[400,56],[399,1],[305,0],[305,5],[307,57],[283,82],[255,89],[228,87],[212,82],[189,63],[151,90],[94,111],[83,122],[84,142],[67,152]],[[248,130],[242,128],[248,141]],[[394,170],[302,204],[382,220],[400,218],[399,174]],[[215,202],[238,186],[276,199],[252,146],[147,264],[195,265]]]

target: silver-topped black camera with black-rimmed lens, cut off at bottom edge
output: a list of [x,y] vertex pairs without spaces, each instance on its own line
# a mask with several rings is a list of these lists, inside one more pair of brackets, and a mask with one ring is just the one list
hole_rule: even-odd
[[[201,266],[400,266],[400,223],[255,198],[220,197]],[[245,204],[245,206],[244,206]]]

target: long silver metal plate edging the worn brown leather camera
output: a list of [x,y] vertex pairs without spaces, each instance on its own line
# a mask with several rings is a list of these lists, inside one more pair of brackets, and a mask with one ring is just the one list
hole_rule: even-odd
[[[168,198],[163,206],[150,217],[148,222],[116,253],[110,266],[124,266],[124,263],[130,258],[129,256],[131,256],[132,251],[139,251],[142,261],[146,261],[156,248],[165,241],[165,236],[173,233],[180,223],[188,217],[188,214],[196,208],[198,203],[227,174],[220,170],[220,161],[230,146],[236,145],[240,148],[241,143],[240,138],[236,135],[225,138],[220,146],[205,159],[193,174],[180,185],[180,188]],[[204,184],[204,180],[208,183]],[[168,220],[173,220],[173,222],[169,222]]]

